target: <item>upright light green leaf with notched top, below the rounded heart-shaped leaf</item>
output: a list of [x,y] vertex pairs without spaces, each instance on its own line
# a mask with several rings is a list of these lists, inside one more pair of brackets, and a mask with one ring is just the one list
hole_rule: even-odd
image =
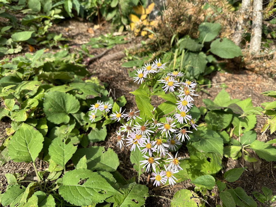
[[75,142],[70,138],[55,138],[49,146],[49,155],[51,159],[60,166],[65,167],[65,164],[77,150],[77,146],[73,145],[74,143]]

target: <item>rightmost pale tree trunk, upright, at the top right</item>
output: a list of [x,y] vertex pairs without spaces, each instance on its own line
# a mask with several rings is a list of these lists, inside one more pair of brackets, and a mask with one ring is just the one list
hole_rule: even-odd
[[259,53],[262,41],[263,0],[253,0],[253,21],[250,39],[250,52]]

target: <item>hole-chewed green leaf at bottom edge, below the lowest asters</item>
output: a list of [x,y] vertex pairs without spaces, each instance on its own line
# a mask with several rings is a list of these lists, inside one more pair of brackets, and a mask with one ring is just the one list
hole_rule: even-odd
[[148,187],[145,185],[139,185],[136,182],[123,186],[120,191],[121,195],[113,196],[117,206],[120,207],[144,206],[148,197]]

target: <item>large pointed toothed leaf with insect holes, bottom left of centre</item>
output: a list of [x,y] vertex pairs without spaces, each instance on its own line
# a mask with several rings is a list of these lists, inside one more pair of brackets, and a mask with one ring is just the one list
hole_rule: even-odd
[[[84,180],[86,182],[82,183]],[[74,205],[102,203],[107,197],[120,195],[105,178],[87,169],[69,171],[64,174],[62,181],[59,194]]]

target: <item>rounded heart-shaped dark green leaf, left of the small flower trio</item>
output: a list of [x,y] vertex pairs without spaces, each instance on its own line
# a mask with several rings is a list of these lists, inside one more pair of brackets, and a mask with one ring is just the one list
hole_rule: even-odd
[[71,94],[55,91],[45,94],[44,97],[44,113],[47,119],[55,124],[68,123],[68,114],[79,111],[79,101]]

